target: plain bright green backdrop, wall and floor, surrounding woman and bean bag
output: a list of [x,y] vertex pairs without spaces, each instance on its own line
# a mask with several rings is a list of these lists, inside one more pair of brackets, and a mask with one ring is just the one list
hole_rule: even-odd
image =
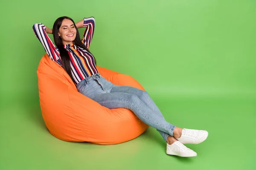
[[[0,9],[1,170],[256,169],[255,0],[8,0]],[[166,155],[152,127],[116,145],[48,132],[36,74],[45,51],[32,26],[60,16],[95,17],[98,65],[137,79],[172,124],[208,130],[186,145],[197,157]]]

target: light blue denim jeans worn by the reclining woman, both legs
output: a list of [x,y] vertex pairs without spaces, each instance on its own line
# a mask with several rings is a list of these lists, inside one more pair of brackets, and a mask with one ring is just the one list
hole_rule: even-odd
[[106,108],[126,108],[133,111],[145,124],[156,128],[165,141],[169,135],[173,136],[176,126],[166,122],[146,91],[114,85],[99,73],[83,79],[77,84],[77,89]]

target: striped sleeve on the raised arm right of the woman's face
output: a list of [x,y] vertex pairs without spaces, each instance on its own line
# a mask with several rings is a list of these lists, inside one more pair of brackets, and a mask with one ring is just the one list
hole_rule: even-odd
[[82,42],[84,43],[84,45],[88,49],[89,49],[90,43],[91,43],[91,41],[93,39],[94,26],[95,26],[95,19],[94,19],[94,17],[84,18],[84,25],[83,25],[83,27],[85,27],[85,30],[84,30],[84,35],[83,35],[83,38],[82,38]]

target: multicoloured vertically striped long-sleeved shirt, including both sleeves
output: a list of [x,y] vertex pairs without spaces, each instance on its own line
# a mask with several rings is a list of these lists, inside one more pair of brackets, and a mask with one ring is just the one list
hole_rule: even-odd
[[[85,27],[85,30],[81,41],[88,49],[90,47],[90,42],[93,38],[94,26],[94,17],[84,18],[83,27]],[[35,36],[44,46],[44,49],[48,54],[49,58],[57,62],[59,65],[61,65],[61,67],[63,67],[59,50],[52,43],[51,39],[47,35],[46,27],[44,26],[44,24],[34,24],[33,31],[35,33]],[[93,74],[98,73],[93,55],[90,54],[88,51],[83,48],[77,47],[74,43],[64,45],[64,48],[68,51],[70,57],[72,77],[75,80],[76,85],[86,77],[90,77]]]

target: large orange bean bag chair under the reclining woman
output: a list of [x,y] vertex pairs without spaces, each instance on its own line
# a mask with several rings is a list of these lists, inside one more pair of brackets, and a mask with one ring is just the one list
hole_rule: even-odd
[[[106,68],[99,73],[116,85],[143,87]],[[80,94],[69,75],[45,54],[37,70],[42,116],[49,132],[64,141],[119,144],[140,136],[148,125],[125,108],[108,109]]]

